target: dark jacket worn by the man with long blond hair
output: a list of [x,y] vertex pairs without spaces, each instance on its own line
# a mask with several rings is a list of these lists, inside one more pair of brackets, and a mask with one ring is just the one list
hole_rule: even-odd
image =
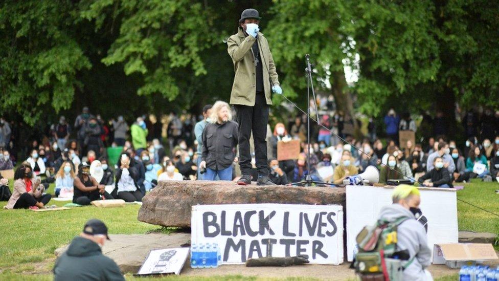
[[221,170],[232,165],[239,141],[236,122],[209,123],[203,130],[201,139],[203,144],[201,160],[206,161],[207,168]]

